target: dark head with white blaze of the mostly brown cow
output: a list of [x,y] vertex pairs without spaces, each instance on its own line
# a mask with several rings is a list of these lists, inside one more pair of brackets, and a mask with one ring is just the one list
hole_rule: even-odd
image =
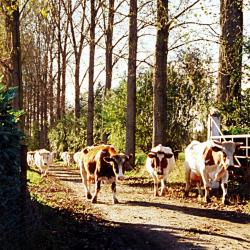
[[116,154],[109,157],[104,157],[103,159],[113,167],[116,178],[118,180],[123,180],[123,172],[125,169],[127,169],[128,165],[130,165],[129,160],[131,157],[132,155],[127,156],[125,154]]

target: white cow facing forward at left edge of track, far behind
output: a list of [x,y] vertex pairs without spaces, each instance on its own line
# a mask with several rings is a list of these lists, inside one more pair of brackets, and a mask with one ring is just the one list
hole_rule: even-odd
[[50,151],[46,149],[39,149],[35,151],[34,155],[34,163],[35,166],[41,172],[41,176],[46,176],[50,165],[53,162],[53,155]]

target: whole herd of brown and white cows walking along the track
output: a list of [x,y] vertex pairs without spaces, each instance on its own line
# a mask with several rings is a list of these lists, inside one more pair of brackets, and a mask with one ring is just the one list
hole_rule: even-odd
[[[234,166],[235,153],[240,144],[232,141],[217,142],[192,141],[185,149],[185,196],[188,196],[191,185],[196,184],[201,194],[201,185],[205,190],[204,202],[209,201],[209,192],[212,188],[221,185],[222,203],[227,202],[227,183],[229,178],[228,167]],[[113,203],[116,198],[116,182],[124,179],[124,171],[131,170],[132,155],[118,153],[114,146],[98,144],[84,148],[76,153],[63,152],[60,154],[65,165],[76,163],[80,169],[82,183],[87,199],[97,202],[97,195],[101,183],[111,184]],[[27,163],[39,168],[45,176],[54,161],[53,152],[45,149],[29,151]],[[154,195],[162,196],[166,191],[166,180],[175,167],[175,156],[170,147],[159,144],[153,147],[147,155],[146,170],[154,180]],[[90,192],[91,183],[95,184],[93,196]],[[159,185],[160,183],[160,193]]]

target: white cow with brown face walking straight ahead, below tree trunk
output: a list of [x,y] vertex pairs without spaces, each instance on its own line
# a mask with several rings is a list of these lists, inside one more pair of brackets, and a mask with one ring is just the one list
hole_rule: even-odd
[[[154,179],[154,195],[163,196],[166,191],[166,179],[175,166],[175,157],[170,147],[159,144],[153,147],[146,159],[146,170]],[[161,182],[159,194],[158,183]]]

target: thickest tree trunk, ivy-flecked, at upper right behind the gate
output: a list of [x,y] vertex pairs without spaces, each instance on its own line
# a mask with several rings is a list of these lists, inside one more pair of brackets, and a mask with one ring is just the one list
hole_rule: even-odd
[[221,0],[218,101],[240,100],[243,0]]

